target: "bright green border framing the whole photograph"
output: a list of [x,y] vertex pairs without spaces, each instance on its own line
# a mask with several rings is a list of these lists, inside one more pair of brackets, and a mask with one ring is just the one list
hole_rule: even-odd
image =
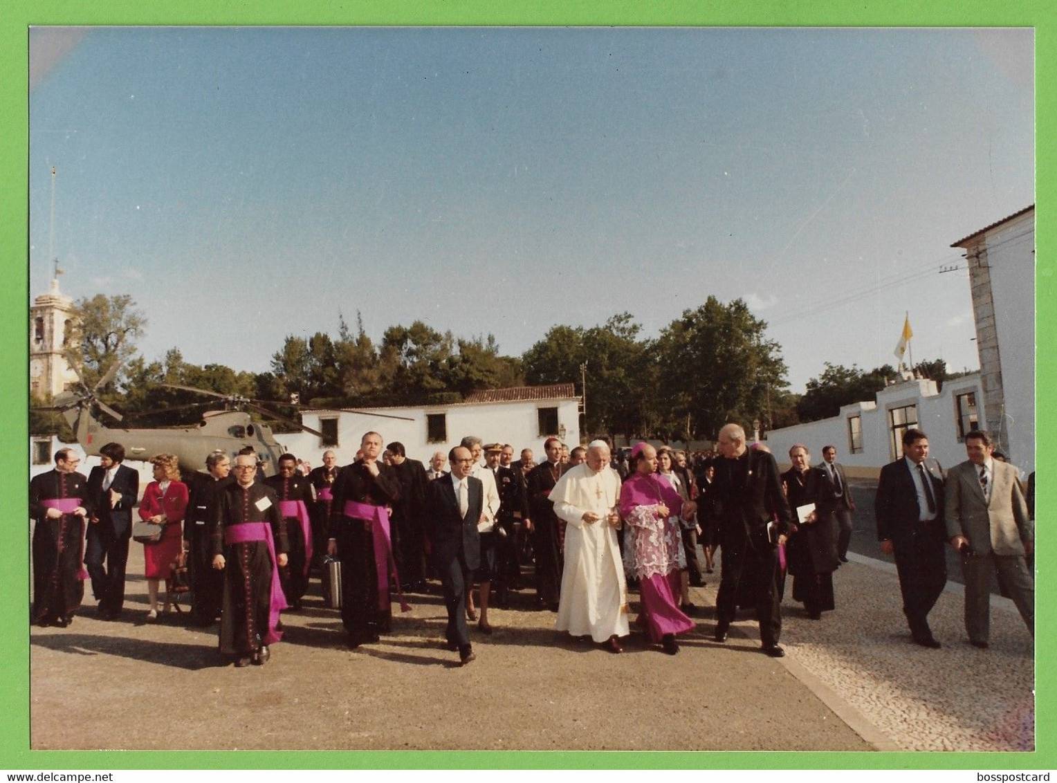
[[[95,0],[75,7],[62,0],[7,0],[0,12],[0,167],[4,172],[0,190],[0,259],[14,285],[0,288],[0,306],[8,317],[0,327],[0,368],[23,368],[0,372],[0,399],[7,402],[6,425],[0,439],[4,453],[14,454],[15,468],[0,473],[2,524],[7,526],[0,543],[3,577],[0,579],[0,692],[12,709],[0,717],[0,767],[10,769],[135,769],[187,766],[203,768],[941,768],[941,769],[1049,769],[1057,767],[1057,701],[1054,676],[1037,666],[1037,750],[1035,753],[779,753],[779,752],[199,752],[188,759],[175,751],[31,751],[29,750],[29,551],[27,535],[21,533],[26,506],[26,481],[22,467],[29,462],[25,372],[29,279],[27,235],[27,26],[31,24],[366,24],[366,25],[801,25],[801,26],[1034,26],[1036,29],[1037,88],[1036,142],[1037,215],[1046,215],[1052,203],[1055,173],[1053,123],[1055,118],[1054,37],[1055,15],[1046,0],[1007,0],[1004,3],[933,0],[910,3],[901,0],[816,0],[815,2],[663,2],[649,7],[638,0],[545,0],[497,3],[494,0],[445,2],[444,0],[364,0],[305,10],[292,0],[186,0],[142,3],[134,0]],[[145,7],[148,6],[149,7]],[[741,7],[745,6],[745,7]],[[1002,216],[996,216],[996,220]],[[953,238],[952,238],[953,239]],[[1037,351],[1038,388],[1057,380],[1049,349],[1054,336],[1054,281],[1052,225],[1037,226]],[[1057,417],[1038,412],[1038,440],[1053,443]],[[1051,436],[1046,436],[1050,433]],[[1041,472],[1047,474],[1054,460],[1039,449]],[[1055,489],[1043,481],[1039,489],[1039,516],[1054,508]],[[1051,526],[1041,528],[1039,572],[1046,575],[1057,559],[1049,545]],[[1045,596],[1046,591],[1042,592]],[[1052,595],[1052,591],[1050,592]],[[1040,598],[1038,659],[1054,656],[1053,620],[1057,610],[1049,597]],[[792,721],[792,716],[791,716]],[[706,727],[702,727],[706,730]],[[191,762],[188,764],[188,762]]]

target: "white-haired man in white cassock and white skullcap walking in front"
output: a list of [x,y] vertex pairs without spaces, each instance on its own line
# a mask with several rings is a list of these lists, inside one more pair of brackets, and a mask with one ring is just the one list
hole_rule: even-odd
[[609,466],[609,445],[592,441],[587,462],[565,471],[550,499],[568,523],[556,628],[622,652],[619,638],[630,633],[628,585],[616,541],[620,477]]

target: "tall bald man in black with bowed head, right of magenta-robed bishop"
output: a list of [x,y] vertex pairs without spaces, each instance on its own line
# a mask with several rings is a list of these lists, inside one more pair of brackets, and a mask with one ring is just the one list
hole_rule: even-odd
[[737,609],[739,588],[756,607],[765,654],[780,658],[782,630],[778,585],[778,536],[789,530],[790,507],[782,493],[775,458],[745,445],[745,430],[728,424],[720,430],[712,495],[718,514],[723,570],[716,596],[717,641],[726,641]]

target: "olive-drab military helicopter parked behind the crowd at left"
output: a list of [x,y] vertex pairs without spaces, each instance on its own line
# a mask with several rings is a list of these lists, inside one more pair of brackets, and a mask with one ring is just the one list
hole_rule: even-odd
[[[257,452],[257,458],[261,463],[261,468],[265,476],[273,476],[277,472],[279,456],[285,452],[282,444],[275,440],[272,428],[267,425],[254,422],[246,408],[256,410],[276,421],[296,427],[305,432],[311,432],[320,437],[323,434],[317,430],[307,427],[300,422],[286,418],[275,411],[263,408],[260,403],[265,400],[255,400],[235,394],[220,394],[219,392],[206,389],[196,389],[179,384],[162,384],[172,389],[205,394],[223,400],[223,410],[205,411],[202,421],[197,426],[179,428],[141,428],[124,429],[118,427],[108,427],[93,415],[93,408],[103,411],[108,416],[120,422],[124,416],[110,406],[96,397],[96,391],[113,378],[117,372],[118,365],[115,363],[94,388],[89,388],[78,375],[78,386],[59,394],[54,405],[38,410],[58,411],[73,428],[77,442],[85,449],[86,455],[97,455],[99,448],[107,443],[115,442],[125,447],[127,460],[147,461],[159,453],[169,453],[175,455],[180,462],[180,468],[185,473],[200,471],[205,466],[205,459],[215,451],[223,451],[234,461],[239,450],[252,446]],[[76,372],[76,371],[75,371]],[[166,411],[192,408],[200,405],[210,405],[211,403],[192,403],[190,405],[168,408]],[[382,413],[367,413],[352,409],[350,413],[363,413],[371,416],[385,416],[387,418],[403,418],[412,421],[406,416],[391,416]],[[161,413],[163,411],[155,411]]]

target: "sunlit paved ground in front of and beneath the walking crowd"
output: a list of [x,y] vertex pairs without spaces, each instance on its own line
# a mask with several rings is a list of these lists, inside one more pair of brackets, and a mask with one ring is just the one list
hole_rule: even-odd
[[[179,618],[142,624],[146,583],[132,579],[124,621],[97,620],[87,605],[70,628],[32,629],[32,746],[1032,749],[1033,640],[1009,602],[995,599],[991,648],[980,651],[948,585],[931,617],[944,648],[926,650],[909,644],[894,566],[852,560],[834,577],[837,611],[821,621],[787,594],[781,660],[757,652],[747,617],[726,645],[711,640],[718,573],[693,591],[707,619],[674,657],[638,636],[623,655],[561,637],[553,614],[523,611],[525,591],[521,608],[494,613],[492,637],[475,634],[466,668],[440,647],[439,595],[412,596],[394,633],[357,651],[313,597],[284,615],[286,638],[266,666],[236,670],[222,665],[215,632]],[[133,545],[129,571],[141,570]]]

